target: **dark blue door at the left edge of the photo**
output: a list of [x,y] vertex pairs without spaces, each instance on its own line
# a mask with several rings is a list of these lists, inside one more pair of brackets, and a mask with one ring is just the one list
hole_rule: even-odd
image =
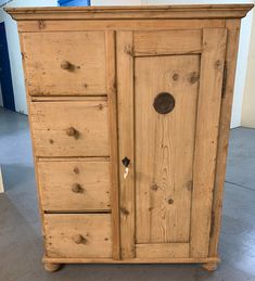
[[3,106],[11,111],[15,111],[12,74],[4,23],[0,23],[0,84]]

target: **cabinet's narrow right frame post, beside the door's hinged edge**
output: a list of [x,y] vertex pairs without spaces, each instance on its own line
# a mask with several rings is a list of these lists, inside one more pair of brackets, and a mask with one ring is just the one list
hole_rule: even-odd
[[226,176],[226,164],[228,154],[228,141],[231,120],[231,107],[233,100],[234,75],[237,66],[240,20],[226,21],[228,29],[226,67],[227,80],[221,100],[221,113],[219,120],[219,139],[217,150],[216,178],[213,202],[213,229],[211,230],[209,256],[218,255],[218,241],[221,225],[222,196]]

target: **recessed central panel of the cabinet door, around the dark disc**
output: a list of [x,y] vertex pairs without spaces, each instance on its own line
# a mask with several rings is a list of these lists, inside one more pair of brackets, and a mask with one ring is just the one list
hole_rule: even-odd
[[[189,242],[200,55],[135,65],[136,243]],[[153,107],[160,92],[175,98],[166,115]]]

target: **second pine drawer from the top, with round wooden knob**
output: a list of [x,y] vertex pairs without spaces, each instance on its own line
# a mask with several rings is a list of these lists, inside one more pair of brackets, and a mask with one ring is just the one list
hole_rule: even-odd
[[33,102],[36,156],[109,156],[105,101]]

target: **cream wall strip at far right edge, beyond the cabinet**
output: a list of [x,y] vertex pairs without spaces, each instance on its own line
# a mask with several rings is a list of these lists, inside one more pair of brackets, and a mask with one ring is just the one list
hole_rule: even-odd
[[241,125],[255,128],[255,10],[253,11],[252,38],[247,59]]

